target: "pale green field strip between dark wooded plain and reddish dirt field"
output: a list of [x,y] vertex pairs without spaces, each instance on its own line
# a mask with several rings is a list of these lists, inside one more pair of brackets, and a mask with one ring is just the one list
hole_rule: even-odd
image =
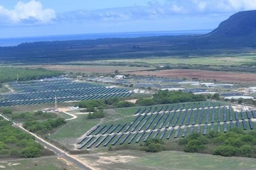
[[256,55],[241,54],[237,55],[214,55],[214,56],[192,56],[189,58],[177,58],[171,56],[152,57],[143,59],[122,59],[122,60],[105,60],[105,62],[127,62],[127,63],[148,63],[148,64],[201,64],[201,65],[241,65],[244,63],[255,63]]

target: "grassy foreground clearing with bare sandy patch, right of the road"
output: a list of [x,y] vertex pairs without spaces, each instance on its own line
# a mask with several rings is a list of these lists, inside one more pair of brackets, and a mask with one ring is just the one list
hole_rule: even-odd
[[[255,159],[191,154],[178,151],[149,153],[108,151],[79,156],[95,169],[255,169]],[[185,161],[186,160],[186,161]]]

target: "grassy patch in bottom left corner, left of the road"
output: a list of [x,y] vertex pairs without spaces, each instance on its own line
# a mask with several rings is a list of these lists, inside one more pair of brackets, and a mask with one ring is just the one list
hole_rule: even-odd
[[41,157],[23,160],[1,161],[0,169],[4,170],[63,170],[73,169],[79,170],[79,168],[73,166],[69,162],[58,157]]

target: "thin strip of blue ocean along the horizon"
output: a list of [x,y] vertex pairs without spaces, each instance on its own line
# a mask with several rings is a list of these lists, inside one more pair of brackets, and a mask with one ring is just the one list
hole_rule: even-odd
[[186,31],[150,31],[150,32],[119,32],[119,33],[88,33],[77,35],[38,36],[38,37],[17,37],[0,38],[0,47],[17,46],[21,43],[40,41],[67,41],[79,39],[99,38],[137,38],[150,36],[178,36],[178,35],[203,35],[212,30],[186,30]]

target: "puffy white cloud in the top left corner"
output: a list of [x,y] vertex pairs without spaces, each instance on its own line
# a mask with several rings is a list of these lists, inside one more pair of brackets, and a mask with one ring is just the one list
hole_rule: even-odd
[[18,2],[13,10],[0,5],[1,25],[47,24],[55,18],[55,10],[43,9],[42,4],[34,0],[28,3]]

